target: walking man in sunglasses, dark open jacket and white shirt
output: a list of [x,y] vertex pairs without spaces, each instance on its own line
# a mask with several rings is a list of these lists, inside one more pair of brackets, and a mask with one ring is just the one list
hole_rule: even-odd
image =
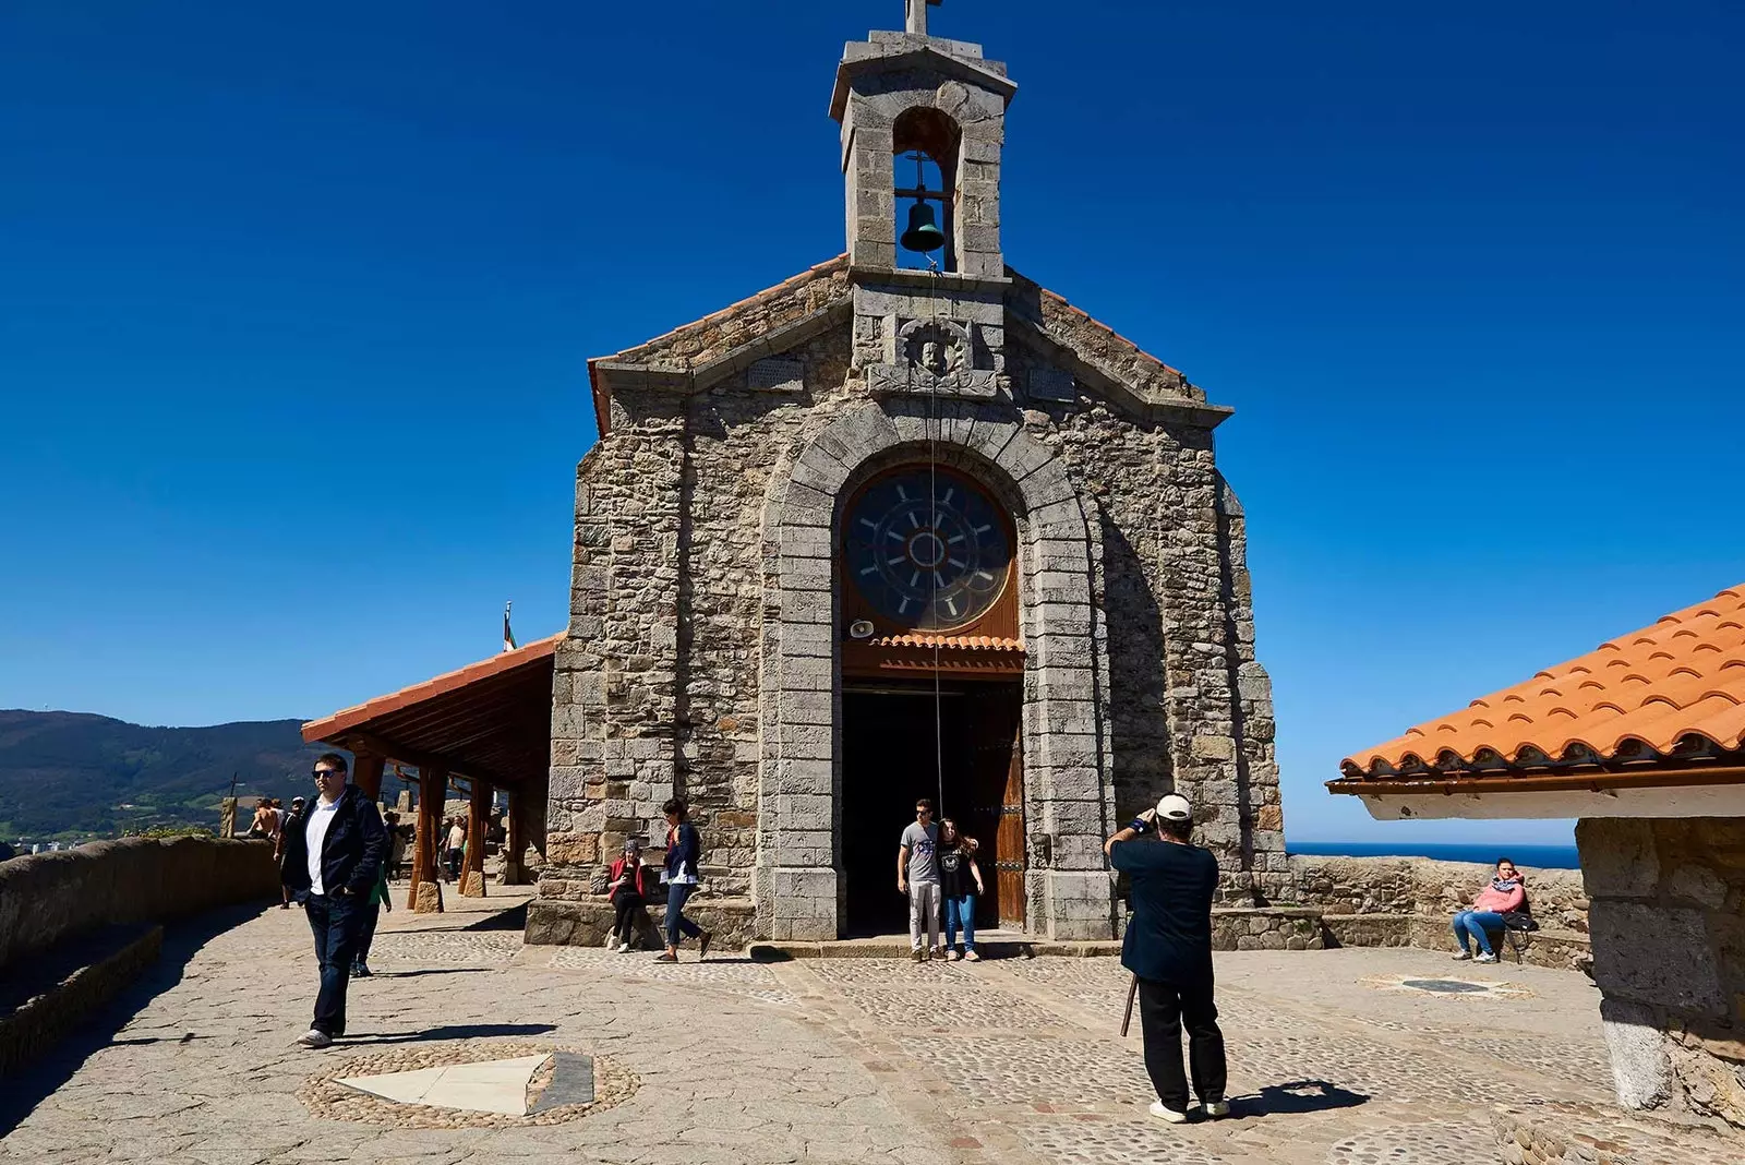
[[375,802],[346,783],[346,757],[316,759],[316,797],[284,825],[284,888],[309,912],[321,964],[316,1017],[297,1043],[325,1048],[346,1034],[346,984],[363,914],[387,855],[387,830]]

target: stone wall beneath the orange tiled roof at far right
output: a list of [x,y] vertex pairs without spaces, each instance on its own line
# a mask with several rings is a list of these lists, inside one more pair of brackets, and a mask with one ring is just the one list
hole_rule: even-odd
[[1619,1102],[1745,1128],[1745,820],[1593,818],[1576,844]]

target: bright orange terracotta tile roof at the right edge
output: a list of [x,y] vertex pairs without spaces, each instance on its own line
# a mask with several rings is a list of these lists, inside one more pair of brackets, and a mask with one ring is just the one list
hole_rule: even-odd
[[1745,584],[1340,762],[1345,776],[1745,746]]

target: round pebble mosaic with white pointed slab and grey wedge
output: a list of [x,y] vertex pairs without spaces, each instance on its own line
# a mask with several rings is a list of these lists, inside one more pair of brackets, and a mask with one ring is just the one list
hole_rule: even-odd
[[314,1116],[363,1125],[522,1128],[604,1113],[639,1087],[628,1067],[574,1048],[466,1043],[349,1057],[297,1099]]

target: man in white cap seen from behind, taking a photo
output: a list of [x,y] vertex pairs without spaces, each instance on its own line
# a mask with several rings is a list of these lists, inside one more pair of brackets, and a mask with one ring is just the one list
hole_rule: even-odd
[[[1188,1120],[1188,1081],[1181,1076],[1181,1029],[1188,1029],[1188,1071],[1206,1116],[1228,1116],[1223,1099],[1223,1032],[1213,1003],[1211,900],[1218,858],[1188,842],[1194,807],[1167,794],[1103,844],[1110,865],[1133,879],[1133,917],[1120,964],[1138,980],[1145,1071],[1157,1088],[1152,1116]],[[1150,837],[1155,835],[1155,841]],[[1136,837],[1146,837],[1134,846]]]

